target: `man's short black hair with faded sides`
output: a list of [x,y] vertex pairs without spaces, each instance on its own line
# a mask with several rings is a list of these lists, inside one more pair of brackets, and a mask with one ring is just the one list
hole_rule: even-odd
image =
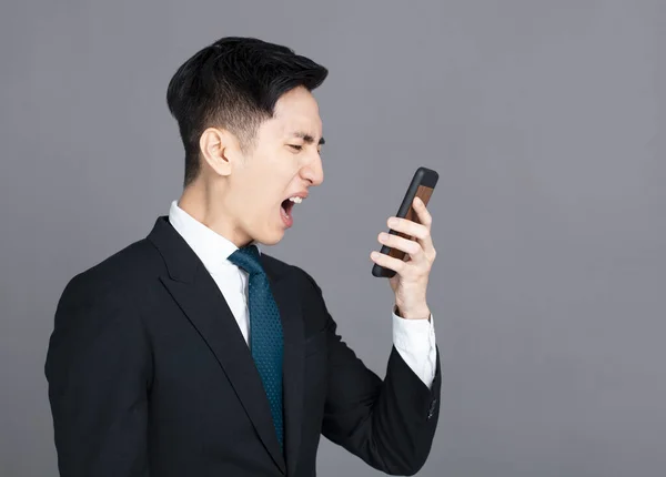
[[185,148],[184,185],[199,175],[199,139],[206,128],[225,128],[249,148],[262,121],[273,116],[280,97],[296,87],[312,91],[327,74],[290,48],[256,38],[225,37],[195,53],[167,90]]

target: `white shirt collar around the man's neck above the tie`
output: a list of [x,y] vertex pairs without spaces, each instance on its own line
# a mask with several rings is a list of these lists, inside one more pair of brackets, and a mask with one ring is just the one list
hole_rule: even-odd
[[[171,202],[169,222],[188,242],[210,273],[229,266],[236,267],[228,258],[239,247],[179,207],[178,201]],[[259,244],[255,241],[251,243],[256,246],[261,255]]]

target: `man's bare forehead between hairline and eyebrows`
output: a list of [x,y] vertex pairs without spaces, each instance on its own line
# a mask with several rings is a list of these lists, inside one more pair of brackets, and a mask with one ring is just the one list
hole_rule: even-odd
[[273,118],[265,123],[271,135],[285,136],[302,133],[319,140],[322,120],[319,105],[305,88],[293,89],[278,100]]

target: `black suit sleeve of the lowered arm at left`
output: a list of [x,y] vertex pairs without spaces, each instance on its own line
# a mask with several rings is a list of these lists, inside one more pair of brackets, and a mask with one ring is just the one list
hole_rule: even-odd
[[79,275],[56,311],[44,372],[62,477],[149,475],[150,351],[128,296],[107,286]]

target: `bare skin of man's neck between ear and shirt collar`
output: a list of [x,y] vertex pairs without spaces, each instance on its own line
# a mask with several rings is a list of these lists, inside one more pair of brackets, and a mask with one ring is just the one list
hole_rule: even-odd
[[234,222],[233,214],[224,210],[223,199],[223,194],[199,182],[185,187],[178,206],[240,248],[252,238]]

